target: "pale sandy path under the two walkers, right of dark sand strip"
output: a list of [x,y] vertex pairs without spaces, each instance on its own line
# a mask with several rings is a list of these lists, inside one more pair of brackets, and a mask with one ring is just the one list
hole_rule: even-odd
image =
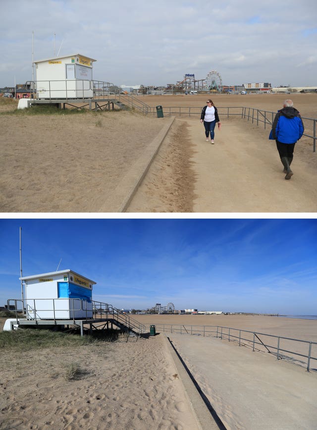
[[317,170],[296,157],[296,147],[294,176],[285,180],[268,131],[254,130],[248,123],[223,122],[211,145],[197,118],[186,122],[195,151],[194,213],[317,212]]

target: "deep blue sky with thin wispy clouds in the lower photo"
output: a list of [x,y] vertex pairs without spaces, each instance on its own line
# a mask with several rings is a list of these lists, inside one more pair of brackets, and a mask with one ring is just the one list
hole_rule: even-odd
[[317,314],[317,219],[1,219],[0,305],[72,269],[118,308]]

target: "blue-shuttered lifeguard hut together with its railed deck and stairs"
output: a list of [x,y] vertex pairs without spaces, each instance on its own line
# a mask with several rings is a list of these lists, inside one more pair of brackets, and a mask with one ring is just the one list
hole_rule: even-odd
[[21,276],[19,279],[24,283],[24,297],[22,293],[22,299],[7,300],[8,309],[15,310],[15,318],[7,319],[3,330],[75,326],[83,335],[85,330],[92,332],[93,329],[115,326],[136,335],[146,331],[144,324],[119,309],[92,300],[96,282],[71,269]]

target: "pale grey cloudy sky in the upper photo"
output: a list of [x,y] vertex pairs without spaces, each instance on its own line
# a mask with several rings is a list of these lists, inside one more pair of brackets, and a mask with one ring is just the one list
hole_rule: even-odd
[[[0,87],[32,79],[34,60],[83,54],[93,77],[166,85],[211,70],[224,85],[317,84],[316,0],[1,0]],[[55,38],[53,34],[55,33]],[[55,45],[54,45],[55,40]]]

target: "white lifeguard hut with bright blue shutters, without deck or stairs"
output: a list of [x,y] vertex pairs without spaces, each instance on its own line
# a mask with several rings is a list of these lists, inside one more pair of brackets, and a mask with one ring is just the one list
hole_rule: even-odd
[[25,285],[28,320],[93,318],[93,280],[70,269],[19,279]]

